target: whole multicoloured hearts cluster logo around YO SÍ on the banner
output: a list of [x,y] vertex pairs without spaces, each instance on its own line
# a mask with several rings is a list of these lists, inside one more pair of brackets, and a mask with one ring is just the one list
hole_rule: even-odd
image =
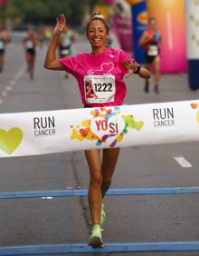
[[71,126],[71,140],[94,141],[97,146],[107,144],[114,147],[120,143],[129,129],[140,131],[144,125],[133,115],[121,115],[119,107],[97,108],[90,111],[91,119]]

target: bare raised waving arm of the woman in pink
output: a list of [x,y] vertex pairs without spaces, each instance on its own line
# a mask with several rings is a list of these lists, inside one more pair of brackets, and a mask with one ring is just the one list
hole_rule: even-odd
[[62,30],[65,24],[66,24],[65,16],[60,15],[60,17],[56,19],[56,25],[53,30],[52,41],[48,46],[45,62],[43,64],[44,68],[52,69],[52,70],[63,70],[62,65],[59,63],[59,60],[56,57],[56,48],[57,48],[57,45],[59,44],[60,35],[62,34]]

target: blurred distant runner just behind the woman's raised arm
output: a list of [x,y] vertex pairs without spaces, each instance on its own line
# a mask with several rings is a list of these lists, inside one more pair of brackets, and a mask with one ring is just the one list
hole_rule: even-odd
[[[59,55],[60,58],[70,57],[71,54],[71,44],[75,42],[75,36],[68,25],[64,26],[62,34],[60,36],[59,42]],[[65,78],[69,78],[69,74],[64,75]]]

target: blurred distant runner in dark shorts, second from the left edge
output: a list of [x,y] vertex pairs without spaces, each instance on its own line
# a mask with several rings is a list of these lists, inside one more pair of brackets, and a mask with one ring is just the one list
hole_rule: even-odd
[[25,51],[25,60],[27,63],[27,72],[29,73],[30,79],[33,79],[34,75],[34,64],[37,45],[42,47],[42,42],[39,40],[39,37],[33,32],[33,27],[29,27],[27,36],[24,38],[23,41],[23,47]]

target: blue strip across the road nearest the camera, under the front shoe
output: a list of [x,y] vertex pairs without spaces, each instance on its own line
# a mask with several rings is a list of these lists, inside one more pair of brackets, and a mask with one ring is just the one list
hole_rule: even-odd
[[199,241],[174,242],[125,242],[105,243],[103,248],[93,249],[85,243],[2,247],[0,255],[35,255],[55,253],[111,253],[111,252],[146,252],[146,251],[199,251]]

